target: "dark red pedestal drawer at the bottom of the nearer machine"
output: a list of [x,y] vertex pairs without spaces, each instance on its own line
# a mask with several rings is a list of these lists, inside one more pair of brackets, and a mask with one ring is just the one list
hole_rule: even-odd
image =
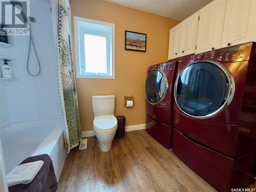
[[252,181],[249,176],[234,167],[233,159],[191,141],[176,129],[173,133],[172,151],[220,191],[230,191],[231,187],[246,187]]

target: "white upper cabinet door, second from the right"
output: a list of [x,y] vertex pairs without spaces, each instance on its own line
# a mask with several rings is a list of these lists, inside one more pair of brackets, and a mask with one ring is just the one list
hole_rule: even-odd
[[221,48],[226,1],[215,0],[199,11],[196,53]]

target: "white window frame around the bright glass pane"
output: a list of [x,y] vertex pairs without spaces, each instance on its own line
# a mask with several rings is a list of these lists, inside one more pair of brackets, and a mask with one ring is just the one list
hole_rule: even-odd
[[[84,28],[79,25],[79,23],[81,22],[111,27],[111,31]],[[74,33],[76,55],[76,78],[115,79],[115,24],[74,16]],[[83,72],[84,68],[86,67],[86,63],[81,62],[82,58],[84,58],[85,53],[84,34],[106,37],[106,74]],[[84,68],[82,68],[82,66]]]

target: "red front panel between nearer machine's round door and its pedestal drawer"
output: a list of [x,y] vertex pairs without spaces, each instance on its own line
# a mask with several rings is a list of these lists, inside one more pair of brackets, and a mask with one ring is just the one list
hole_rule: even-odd
[[236,156],[238,125],[193,119],[174,108],[174,127],[177,131],[209,148],[227,156]]

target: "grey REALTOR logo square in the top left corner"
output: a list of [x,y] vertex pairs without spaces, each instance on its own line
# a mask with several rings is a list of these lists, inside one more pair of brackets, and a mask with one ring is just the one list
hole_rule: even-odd
[[[7,35],[27,35],[29,0],[0,0],[1,32]],[[4,30],[4,31],[3,31]]]

